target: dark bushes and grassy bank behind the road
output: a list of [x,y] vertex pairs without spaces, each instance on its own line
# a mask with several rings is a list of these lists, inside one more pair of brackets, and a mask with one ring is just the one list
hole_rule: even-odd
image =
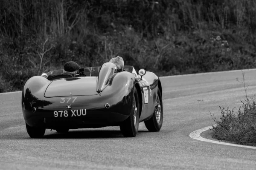
[[159,76],[254,68],[253,0],[0,0],[0,92],[117,55]]

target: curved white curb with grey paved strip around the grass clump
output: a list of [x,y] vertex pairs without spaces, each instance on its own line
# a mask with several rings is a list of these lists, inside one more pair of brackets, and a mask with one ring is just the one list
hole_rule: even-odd
[[[215,125],[213,125],[215,126]],[[253,146],[247,146],[247,145],[241,145],[241,144],[232,144],[232,143],[227,143],[227,142],[221,142],[217,139],[213,139],[211,135],[210,129],[212,129],[212,126],[207,126],[199,130],[195,130],[194,132],[189,134],[189,137],[192,139],[204,141],[204,142],[211,142],[215,144],[224,144],[224,145],[229,145],[229,146],[236,146],[236,147],[246,147],[250,149],[256,149],[256,147]]]

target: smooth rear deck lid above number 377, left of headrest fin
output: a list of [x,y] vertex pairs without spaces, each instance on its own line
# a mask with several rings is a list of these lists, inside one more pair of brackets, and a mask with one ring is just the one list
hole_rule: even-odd
[[97,77],[57,79],[47,87],[45,97],[96,95]]

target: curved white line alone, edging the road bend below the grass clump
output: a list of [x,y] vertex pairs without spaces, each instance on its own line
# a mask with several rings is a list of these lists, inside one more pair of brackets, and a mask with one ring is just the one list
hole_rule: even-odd
[[246,147],[246,148],[250,148],[250,149],[256,149],[256,147],[253,146],[247,146],[247,145],[241,145],[241,144],[232,144],[232,143],[226,143],[226,142],[218,142],[218,141],[213,141],[210,139],[206,139],[203,138],[201,136],[201,133],[203,133],[206,130],[212,129],[212,126],[207,126],[204,127],[202,129],[199,130],[195,130],[194,132],[189,134],[189,137],[196,139],[196,140],[200,140],[200,141],[204,141],[204,142],[211,142],[211,143],[215,143],[215,144],[224,144],[224,145],[229,145],[229,146],[236,146],[236,147]]

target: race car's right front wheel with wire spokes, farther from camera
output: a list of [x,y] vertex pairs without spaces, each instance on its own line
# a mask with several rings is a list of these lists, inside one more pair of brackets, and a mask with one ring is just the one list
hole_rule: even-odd
[[158,132],[163,125],[163,102],[159,88],[157,90],[157,101],[154,108],[154,113],[152,117],[144,121],[144,123],[150,132]]

